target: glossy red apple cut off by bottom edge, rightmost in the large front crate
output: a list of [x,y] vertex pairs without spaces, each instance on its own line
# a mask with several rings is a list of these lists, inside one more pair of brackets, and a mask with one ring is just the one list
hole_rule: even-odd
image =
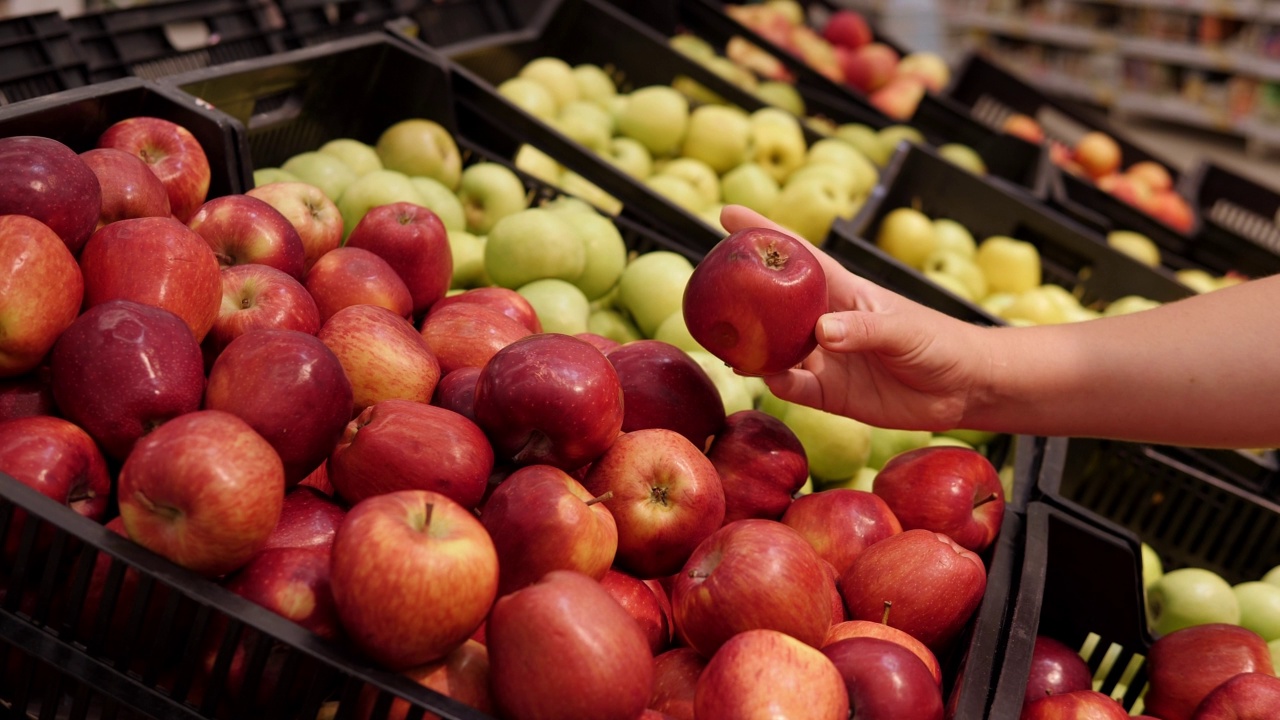
[[942,688],[910,650],[873,637],[823,646],[840,671],[856,717],[942,720]]

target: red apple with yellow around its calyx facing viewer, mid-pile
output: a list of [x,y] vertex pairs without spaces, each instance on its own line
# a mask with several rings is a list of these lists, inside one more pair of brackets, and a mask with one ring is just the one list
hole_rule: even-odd
[[724,491],[716,466],[675,430],[649,428],[618,436],[582,486],[618,525],[617,565],[640,578],[669,575],[724,521]]

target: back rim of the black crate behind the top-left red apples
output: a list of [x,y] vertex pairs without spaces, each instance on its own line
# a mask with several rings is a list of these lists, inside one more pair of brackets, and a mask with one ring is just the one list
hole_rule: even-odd
[[40,135],[83,152],[96,147],[99,136],[111,124],[138,115],[178,123],[200,141],[209,158],[209,197],[253,187],[239,123],[170,87],[141,78],[77,87],[0,108],[0,137]]

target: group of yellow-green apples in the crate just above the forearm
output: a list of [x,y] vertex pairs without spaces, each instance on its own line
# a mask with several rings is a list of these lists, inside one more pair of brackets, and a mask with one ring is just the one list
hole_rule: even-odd
[[961,223],[929,218],[914,208],[897,208],[886,214],[876,245],[1011,325],[1074,323],[1160,305],[1129,295],[1102,310],[1087,307],[1071,291],[1043,281],[1039,250],[1030,242],[1007,236],[977,242]]

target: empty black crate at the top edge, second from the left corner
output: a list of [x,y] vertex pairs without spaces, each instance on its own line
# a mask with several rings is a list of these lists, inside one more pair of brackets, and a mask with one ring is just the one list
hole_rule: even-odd
[[90,79],[157,78],[284,50],[266,0],[178,0],[70,18]]

